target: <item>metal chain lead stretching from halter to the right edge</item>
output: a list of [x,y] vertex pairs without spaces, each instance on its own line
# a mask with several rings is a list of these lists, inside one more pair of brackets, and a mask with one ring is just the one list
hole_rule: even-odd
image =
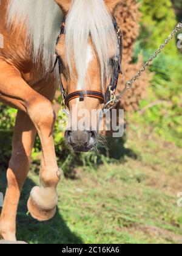
[[141,76],[146,71],[146,68],[150,66],[150,64],[153,62],[154,59],[157,58],[158,54],[161,53],[161,51],[164,49],[164,47],[169,43],[170,40],[174,38],[174,36],[177,34],[178,30],[182,29],[182,23],[178,23],[178,25],[175,27],[174,30],[172,30],[171,34],[169,37],[166,38],[163,44],[160,45],[160,48],[155,51],[155,53],[149,57],[146,63],[144,63],[143,66],[141,66],[140,70],[132,77],[131,80],[127,81],[125,84],[125,87],[123,91],[121,91],[120,94],[116,95],[114,99],[111,101],[107,102],[106,105],[103,107],[103,113],[106,113],[107,111],[111,110],[115,105],[123,98],[123,96],[126,94],[126,91],[132,88],[133,82],[138,79],[138,77]]

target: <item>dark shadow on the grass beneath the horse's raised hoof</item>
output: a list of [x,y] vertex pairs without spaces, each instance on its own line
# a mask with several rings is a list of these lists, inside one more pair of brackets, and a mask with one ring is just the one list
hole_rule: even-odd
[[[66,222],[57,209],[55,217],[47,222],[38,222],[31,216],[27,216],[27,200],[30,190],[35,183],[29,178],[26,180],[21,193],[17,216],[17,239],[35,244],[81,244],[83,241],[79,235],[71,232]],[[0,191],[5,192],[5,172],[0,171]]]

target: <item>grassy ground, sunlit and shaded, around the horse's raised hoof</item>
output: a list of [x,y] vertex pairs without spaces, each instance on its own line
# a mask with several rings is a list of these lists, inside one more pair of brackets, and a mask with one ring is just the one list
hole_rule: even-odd
[[[138,131],[136,131],[138,130]],[[182,150],[147,130],[127,128],[123,160],[62,179],[55,218],[39,223],[26,202],[38,176],[30,172],[18,210],[17,238],[27,243],[182,243]],[[5,173],[0,172],[1,191]]]

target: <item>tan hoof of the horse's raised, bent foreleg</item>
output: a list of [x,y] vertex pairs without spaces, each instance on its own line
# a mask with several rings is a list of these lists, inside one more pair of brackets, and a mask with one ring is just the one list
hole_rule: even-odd
[[37,219],[38,221],[49,221],[49,219],[52,219],[56,213],[56,207],[51,210],[41,209],[31,196],[27,202],[27,208],[32,218]]

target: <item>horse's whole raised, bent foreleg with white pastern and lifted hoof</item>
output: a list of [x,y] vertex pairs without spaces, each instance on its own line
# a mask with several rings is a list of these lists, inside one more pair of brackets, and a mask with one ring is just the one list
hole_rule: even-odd
[[[0,98],[6,97],[6,101],[7,98],[18,99],[22,108],[25,108],[30,116],[41,140],[40,187],[33,188],[28,209],[34,218],[45,221],[55,215],[58,201],[56,187],[60,180],[52,134],[55,122],[52,103],[29,87],[19,71],[7,63],[0,63],[0,73]],[[54,83],[49,81],[47,87],[55,90],[55,81]]]

